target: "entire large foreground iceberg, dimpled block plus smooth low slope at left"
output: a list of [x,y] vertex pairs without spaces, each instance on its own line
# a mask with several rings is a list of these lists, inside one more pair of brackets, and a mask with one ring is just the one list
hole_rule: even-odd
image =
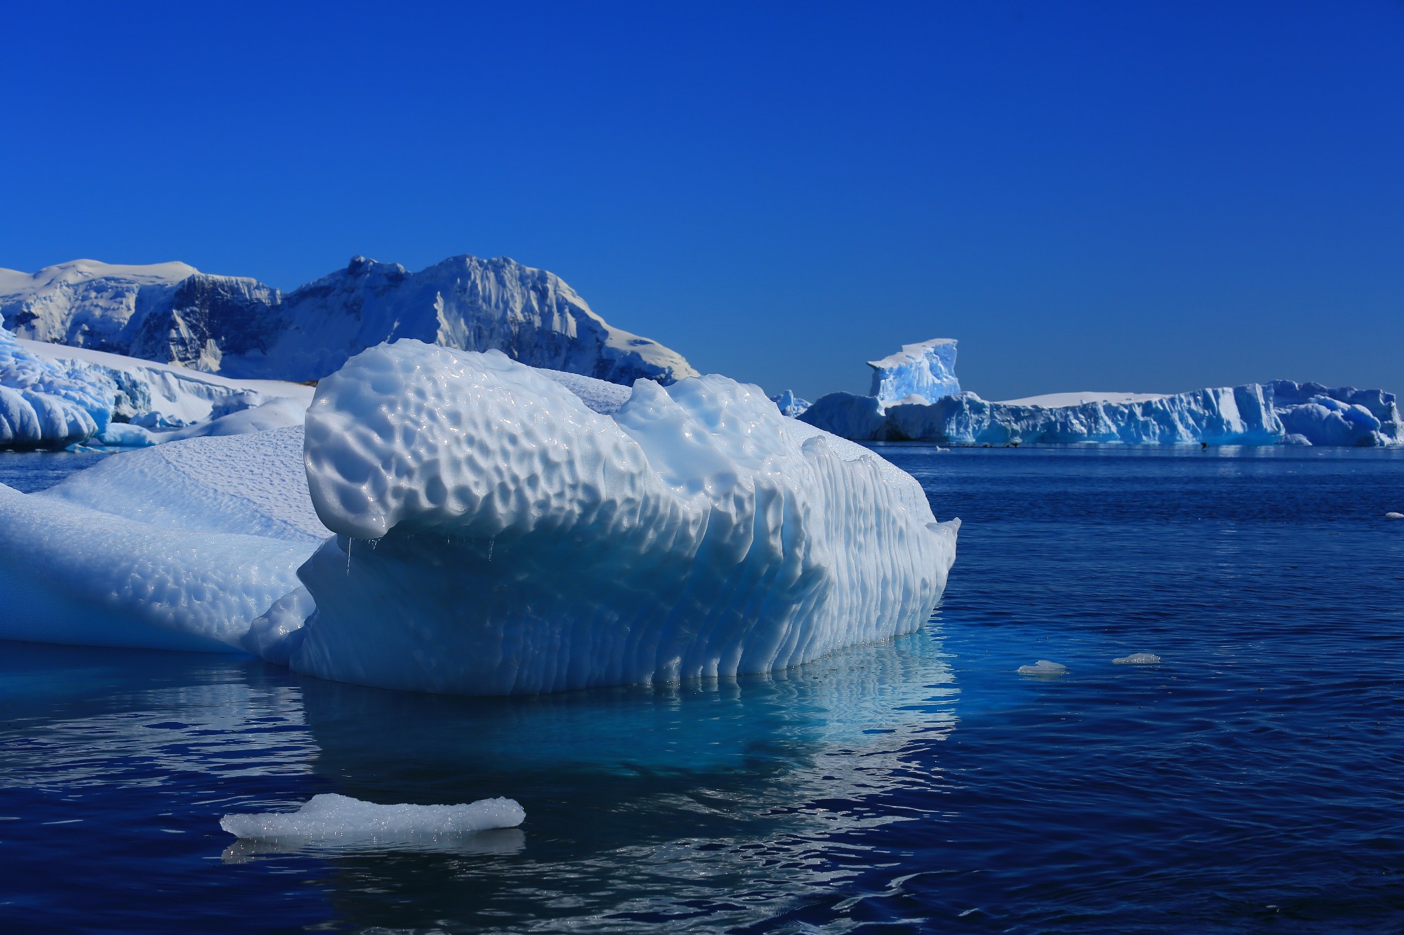
[[920,628],[959,520],[758,387],[632,388],[399,341],[306,426],[0,486],[0,638],[254,652],[528,694],[783,669]]

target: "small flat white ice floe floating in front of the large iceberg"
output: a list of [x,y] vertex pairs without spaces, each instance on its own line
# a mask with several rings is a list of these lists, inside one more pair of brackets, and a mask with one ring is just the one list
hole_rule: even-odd
[[345,795],[314,795],[296,812],[226,814],[219,827],[257,841],[413,842],[514,828],[526,812],[512,799],[470,805],[376,805]]

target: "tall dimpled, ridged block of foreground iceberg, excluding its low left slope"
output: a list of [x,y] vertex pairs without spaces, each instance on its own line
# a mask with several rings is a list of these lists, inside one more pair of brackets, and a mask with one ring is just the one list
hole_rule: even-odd
[[463,694],[788,667],[920,627],[955,561],[911,477],[724,377],[611,415],[400,341],[323,380],[293,669]]

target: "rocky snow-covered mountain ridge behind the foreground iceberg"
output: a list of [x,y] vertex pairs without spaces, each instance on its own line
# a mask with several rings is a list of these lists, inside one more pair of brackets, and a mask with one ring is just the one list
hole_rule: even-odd
[[319,380],[397,338],[614,383],[696,374],[677,352],[607,324],[555,273],[504,257],[452,257],[420,272],[355,257],[288,294],[185,264],[0,269],[0,320],[21,338],[234,378]]

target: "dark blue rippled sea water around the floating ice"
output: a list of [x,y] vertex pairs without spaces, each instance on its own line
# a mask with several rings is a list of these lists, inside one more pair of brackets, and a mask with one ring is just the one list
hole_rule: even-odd
[[[0,643],[0,928],[1404,929],[1404,451],[879,450],[965,520],[945,604],[774,677],[461,699]],[[526,821],[218,827],[317,792]]]

